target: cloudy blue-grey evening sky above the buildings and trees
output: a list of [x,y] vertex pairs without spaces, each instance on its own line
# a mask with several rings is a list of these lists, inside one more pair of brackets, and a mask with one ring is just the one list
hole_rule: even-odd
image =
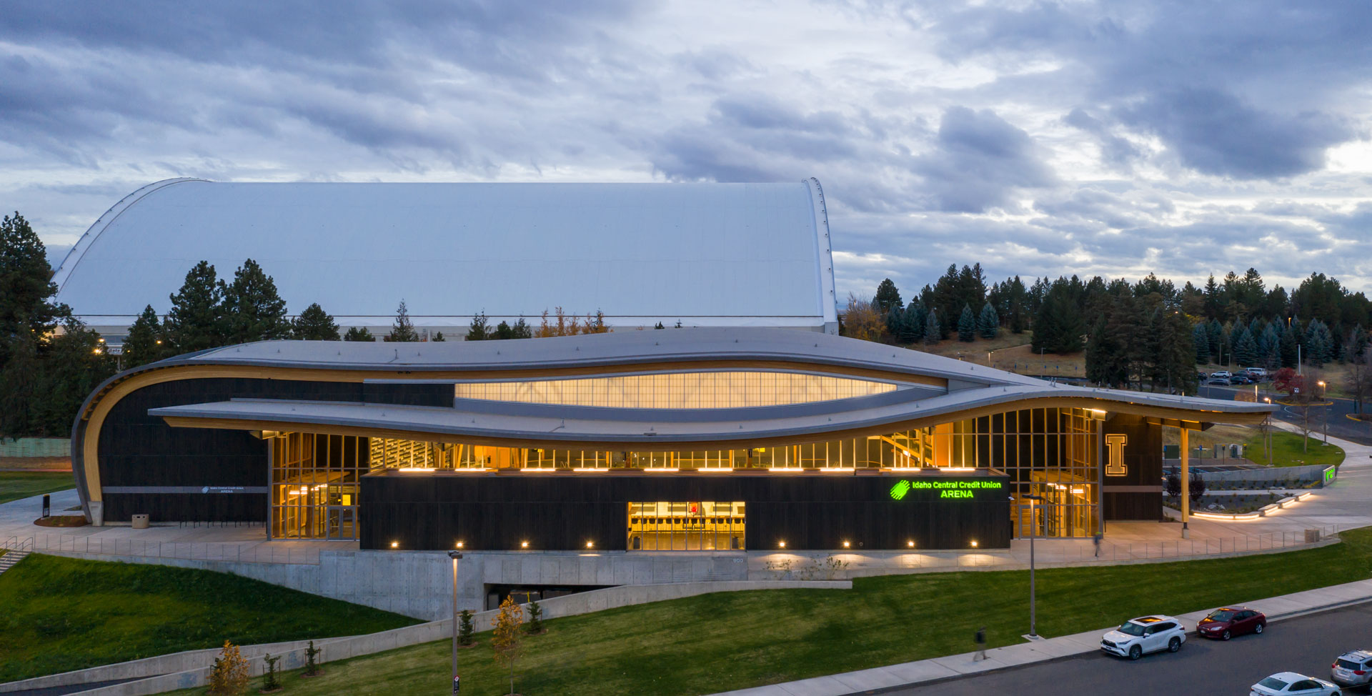
[[54,247],[170,177],[814,176],[841,292],[1372,291],[1369,114],[1365,0],[0,0],[0,203]]

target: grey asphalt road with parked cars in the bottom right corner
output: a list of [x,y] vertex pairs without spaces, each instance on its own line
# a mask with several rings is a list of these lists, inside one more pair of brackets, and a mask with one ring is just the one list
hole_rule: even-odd
[[1369,647],[1372,604],[1360,604],[1280,620],[1262,636],[1229,642],[1192,636],[1181,652],[1147,655],[1139,662],[1092,653],[885,693],[1247,693],[1251,684],[1277,671],[1328,678],[1329,663],[1340,652]]

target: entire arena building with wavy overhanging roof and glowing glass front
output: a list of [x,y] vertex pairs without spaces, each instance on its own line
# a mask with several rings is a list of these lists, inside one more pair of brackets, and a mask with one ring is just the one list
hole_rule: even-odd
[[96,524],[362,549],[1006,548],[1158,519],[1162,428],[1269,410],[788,329],[265,342],[111,379],[74,464]]

